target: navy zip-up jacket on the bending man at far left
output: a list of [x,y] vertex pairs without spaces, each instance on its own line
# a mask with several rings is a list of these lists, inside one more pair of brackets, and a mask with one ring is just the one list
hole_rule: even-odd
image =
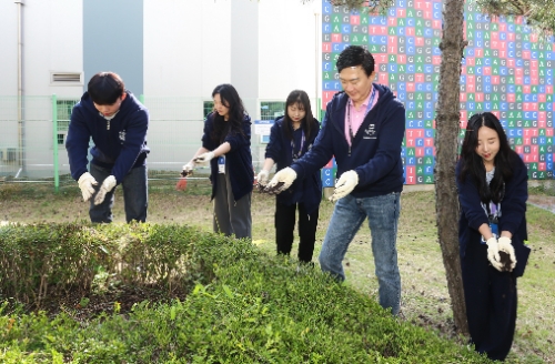
[[125,92],[125,100],[110,121],[94,108],[89,92],[73,107],[65,149],[75,181],[88,172],[87,150],[91,136],[94,143],[91,163],[111,169],[118,184],[133,166],[147,163],[149,112],[130,91]]

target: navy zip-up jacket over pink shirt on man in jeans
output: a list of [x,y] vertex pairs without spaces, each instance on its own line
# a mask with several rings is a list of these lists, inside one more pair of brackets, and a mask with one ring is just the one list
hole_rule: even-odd
[[335,156],[337,178],[351,170],[359,174],[359,184],[351,192],[354,198],[403,191],[401,145],[405,133],[405,108],[387,87],[373,85],[380,97],[353,139],[351,154],[345,139],[349,97],[339,92],[327,103],[322,130],[314,145],[291,165],[297,179],[313,174]]

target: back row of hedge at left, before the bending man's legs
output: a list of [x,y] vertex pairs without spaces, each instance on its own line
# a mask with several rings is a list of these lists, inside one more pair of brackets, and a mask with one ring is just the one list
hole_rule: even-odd
[[0,295],[40,307],[47,295],[89,293],[99,270],[122,284],[183,292],[205,271],[203,241],[225,239],[171,225],[3,226]]

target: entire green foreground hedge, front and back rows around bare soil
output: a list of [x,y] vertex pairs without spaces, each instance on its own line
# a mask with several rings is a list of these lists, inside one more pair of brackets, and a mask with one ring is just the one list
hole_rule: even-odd
[[41,284],[46,294],[84,292],[94,276],[79,272],[99,265],[129,284],[186,292],[181,301],[142,302],[127,314],[115,307],[84,322],[4,303],[2,363],[490,362],[392,317],[319,269],[297,272],[296,263],[248,241],[186,226],[16,225],[0,229],[0,254],[2,276],[21,264],[1,279],[4,297],[18,290],[38,297]]

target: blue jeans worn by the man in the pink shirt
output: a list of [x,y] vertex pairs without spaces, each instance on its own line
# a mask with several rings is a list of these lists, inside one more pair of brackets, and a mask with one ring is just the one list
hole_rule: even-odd
[[364,199],[349,194],[339,200],[319,257],[322,271],[344,281],[343,257],[362,223],[369,218],[375,274],[380,284],[380,305],[391,309],[394,315],[398,313],[401,301],[396,249],[400,198],[401,194],[396,192]]

